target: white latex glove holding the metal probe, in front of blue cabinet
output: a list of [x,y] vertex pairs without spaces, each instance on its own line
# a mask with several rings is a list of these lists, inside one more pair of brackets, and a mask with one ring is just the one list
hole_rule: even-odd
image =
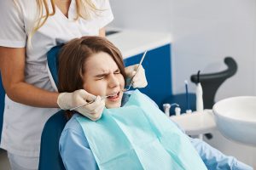
[[[145,70],[143,68],[143,65],[140,66],[137,75],[135,75],[136,70],[137,70],[138,64],[137,65],[131,65],[125,67],[125,73],[128,78],[132,78],[132,87],[133,88],[145,88],[148,85],[147,78],[145,75]],[[135,76],[134,76],[135,75]],[[127,85],[130,83],[128,82]]]

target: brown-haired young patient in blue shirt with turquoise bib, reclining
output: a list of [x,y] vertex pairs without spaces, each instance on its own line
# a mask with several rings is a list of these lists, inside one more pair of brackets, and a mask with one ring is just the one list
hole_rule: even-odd
[[59,59],[60,92],[85,89],[108,108],[97,122],[67,113],[60,139],[67,169],[252,169],[190,139],[144,94],[123,93],[122,56],[105,38],[74,39]]

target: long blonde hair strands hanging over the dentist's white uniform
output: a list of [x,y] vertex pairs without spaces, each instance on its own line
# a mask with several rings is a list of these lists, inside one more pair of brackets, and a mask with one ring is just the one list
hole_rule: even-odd
[[[36,1],[37,1],[37,8],[38,8],[38,19],[36,20],[32,28],[32,31],[28,35],[29,44],[35,32],[38,31],[40,27],[44,26],[44,23],[49,18],[49,16],[52,16],[55,14],[55,0],[50,0],[52,13],[49,12],[49,4],[47,3],[48,0],[36,0]],[[98,15],[98,12],[104,10],[104,9],[96,8],[96,5],[92,2],[92,0],[75,0],[75,1],[76,1],[77,15],[74,18],[74,20],[78,20],[79,17],[83,18],[84,20],[90,20],[93,15]],[[45,10],[45,14],[44,14],[44,10]]]

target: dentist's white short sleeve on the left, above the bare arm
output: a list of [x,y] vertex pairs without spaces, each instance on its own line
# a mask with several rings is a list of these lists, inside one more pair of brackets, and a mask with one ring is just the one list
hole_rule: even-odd
[[19,4],[13,0],[0,0],[0,14],[0,46],[24,48],[26,32]]

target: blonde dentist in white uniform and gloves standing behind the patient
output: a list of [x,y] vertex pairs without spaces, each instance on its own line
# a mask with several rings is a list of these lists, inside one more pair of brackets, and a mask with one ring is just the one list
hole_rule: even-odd
[[[8,151],[12,169],[38,169],[44,123],[58,108],[69,110],[96,98],[84,90],[55,92],[46,54],[75,37],[104,37],[113,14],[108,0],[1,0],[0,11],[0,68],[7,94],[0,146]],[[136,68],[131,65],[125,73],[133,77]],[[147,86],[143,68],[133,81],[134,88]],[[79,112],[97,120],[104,105],[96,99]]]

